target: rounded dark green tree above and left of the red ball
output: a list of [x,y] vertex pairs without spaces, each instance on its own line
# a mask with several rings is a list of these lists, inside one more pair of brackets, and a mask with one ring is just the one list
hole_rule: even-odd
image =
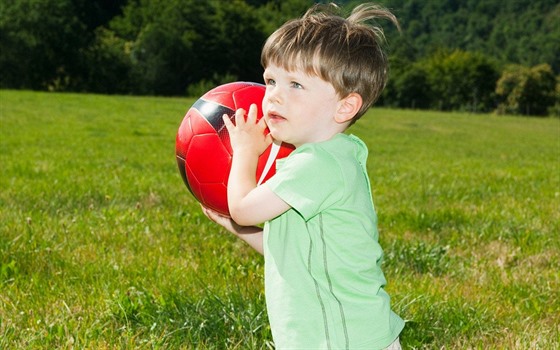
[[212,15],[208,2],[129,3],[112,27],[130,47],[134,91],[177,94],[200,76],[205,63],[214,66],[216,42],[210,35],[216,28]]

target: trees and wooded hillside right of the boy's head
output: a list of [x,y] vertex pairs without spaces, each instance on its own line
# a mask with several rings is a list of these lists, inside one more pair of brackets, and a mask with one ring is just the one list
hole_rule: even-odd
[[404,108],[560,115],[557,0],[387,0],[392,80]]

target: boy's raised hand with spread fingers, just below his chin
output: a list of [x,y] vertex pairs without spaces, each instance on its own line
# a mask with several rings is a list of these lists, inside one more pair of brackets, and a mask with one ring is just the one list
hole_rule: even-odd
[[235,125],[227,115],[223,116],[224,123],[229,132],[233,153],[244,153],[260,156],[272,143],[272,136],[266,133],[264,118],[257,120],[257,106],[249,107],[247,119],[245,110],[240,108],[235,111]]

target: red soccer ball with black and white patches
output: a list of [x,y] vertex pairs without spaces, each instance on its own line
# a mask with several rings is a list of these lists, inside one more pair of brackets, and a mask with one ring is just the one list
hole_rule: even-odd
[[[248,111],[254,103],[260,119],[264,92],[264,85],[257,83],[220,85],[198,99],[179,126],[175,154],[183,181],[200,203],[223,215],[229,216],[227,182],[232,149],[222,116],[227,114],[234,121],[237,109]],[[286,157],[293,149],[292,145],[284,143],[270,145],[259,157],[257,183],[274,175],[275,160]]]

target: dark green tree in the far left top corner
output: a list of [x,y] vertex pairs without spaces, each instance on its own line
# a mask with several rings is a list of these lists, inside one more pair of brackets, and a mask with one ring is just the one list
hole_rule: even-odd
[[0,87],[74,87],[91,35],[71,0],[2,1],[0,33]]

